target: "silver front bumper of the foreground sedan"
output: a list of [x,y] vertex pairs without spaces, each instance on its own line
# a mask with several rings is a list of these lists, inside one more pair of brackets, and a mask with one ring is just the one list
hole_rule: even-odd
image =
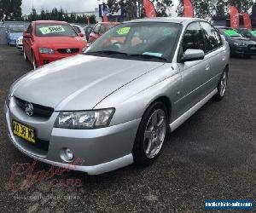
[[[133,163],[131,151],[140,119],[97,130],[64,130],[52,128],[57,112],[54,112],[49,120],[41,119],[35,122],[33,118],[24,117],[25,113],[21,112],[14,102],[12,98],[9,107],[6,104],[4,107],[9,139],[20,152],[27,156],[46,164],[84,171],[89,175],[117,170]],[[45,142],[49,140],[49,149],[40,150],[15,136],[12,132],[14,119],[21,124],[33,127],[38,140]],[[63,147],[71,149],[75,154],[74,159],[83,159],[83,163],[72,165],[64,162],[61,158]]]

